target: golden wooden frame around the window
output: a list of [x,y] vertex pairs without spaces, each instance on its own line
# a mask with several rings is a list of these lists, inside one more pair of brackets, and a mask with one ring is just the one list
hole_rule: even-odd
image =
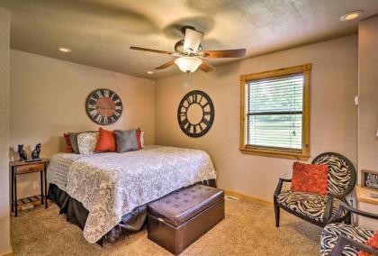
[[[265,78],[278,78],[302,73],[303,75],[303,109],[302,109],[302,151],[290,149],[275,149],[264,146],[251,146],[246,144],[246,83],[253,80]],[[247,154],[294,159],[308,160],[310,158],[310,89],[311,89],[311,63],[303,64],[286,69],[275,69],[271,71],[248,74],[240,77],[240,142],[239,151]]]

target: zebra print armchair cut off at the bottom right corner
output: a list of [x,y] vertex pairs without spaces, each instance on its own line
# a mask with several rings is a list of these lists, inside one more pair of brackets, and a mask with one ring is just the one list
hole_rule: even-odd
[[333,224],[333,220],[338,219],[346,211],[378,220],[378,215],[341,205],[320,235],[320,256],[357,256],[359,251],[378,255],[378,250],[365,244],[374,235],[373,230],[349,224]]

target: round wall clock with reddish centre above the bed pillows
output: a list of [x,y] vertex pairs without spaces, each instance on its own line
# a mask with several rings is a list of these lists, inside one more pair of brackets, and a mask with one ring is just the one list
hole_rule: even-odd
[[107,125],[117,122],[122,114],[120,96],[109,89],[96,89],[87,98],[85,103],[86,114],[94,122]]

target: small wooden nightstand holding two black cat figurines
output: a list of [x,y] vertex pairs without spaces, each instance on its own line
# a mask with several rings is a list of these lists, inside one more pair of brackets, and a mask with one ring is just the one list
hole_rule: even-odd
[[[47,160],[41,159],[39,161],[31,161],[31,162],[11,161],[9,162],[9,167],[12,172],[12,180],[11,180],[12,212],[14,212],[14,216],[15,217],[17,216],[17,206],[28,204],[31,202],[36,202],[39,200],[40,200],[40,204],[45,205],[45,208],[47,208],[48,207],[47,182],[46,182]],[[18,199],[17,198],[17,175],[23,175],[23,174],[32,173],[32,172],[40,172],[40,195]]]

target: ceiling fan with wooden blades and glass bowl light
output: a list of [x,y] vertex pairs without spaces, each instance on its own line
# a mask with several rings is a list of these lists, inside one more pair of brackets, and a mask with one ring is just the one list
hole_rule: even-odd
[[215,69],[204,59],[211,58],[242,58],[246,55],[246,49],[236,50],[203,50],[201,41],[203,32],[196,31],[192,26],[184,26],[181,29],[184,34],[184,40],[175,43],[175,52],[166,50],[154,50],[142,47],[131,46],[131,50],[144,50],[162,54],[168,54],[176,59],[170,60],[155,69],[166,69],[172,65],[177,65],[185,73],[192,73],[198,68],[204,72],[210,72]]

